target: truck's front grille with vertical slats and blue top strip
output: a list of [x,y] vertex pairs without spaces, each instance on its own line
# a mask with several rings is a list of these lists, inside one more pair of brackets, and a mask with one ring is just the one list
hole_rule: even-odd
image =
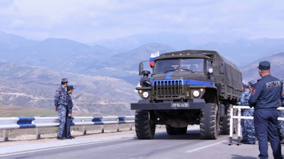
[[182,94],[181,87],[181,80],[154,81],[154,94],[159,98],[178,97]]

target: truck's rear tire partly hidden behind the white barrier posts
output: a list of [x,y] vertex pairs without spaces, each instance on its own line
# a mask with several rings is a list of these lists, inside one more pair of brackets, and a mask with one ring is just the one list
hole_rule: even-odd
[[[230,104],[226,110],[226,116],[220,117],[220,132],[222,135],[230,135],[230,113],[233,105]],[[236,109],[233,109],[233,115],[236,116]],[[233,119],[233,133],[236,133],[237,120]]]

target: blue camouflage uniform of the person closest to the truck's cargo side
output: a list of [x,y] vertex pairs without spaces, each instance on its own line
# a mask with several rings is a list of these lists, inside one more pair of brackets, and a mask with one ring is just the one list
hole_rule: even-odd
[[[240,103],[241,106],[248,106],[248,100],[249,100],[249,97],[250,97],[249,93],[250,93],[249,89],[245,90],[242,93],[242,98],[241,98],[241,103]],[[244,112],[245,112],[245,109],[241,109],[241,116],[244,116]],[[241,126],[242,126],[243,141],[248,141],[247,134],[246,134],[247,132],[245,131],[245,119],[241,119]]]

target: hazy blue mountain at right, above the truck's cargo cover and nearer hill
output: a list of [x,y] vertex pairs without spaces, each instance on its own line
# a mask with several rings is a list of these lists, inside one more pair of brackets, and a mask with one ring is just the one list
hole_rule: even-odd
[[284,38],[240,39],[235,43],[209,43],[195,47],[195,49],[215,50],[236,64],[236,66],[243,67],[255,60],[284,52]]

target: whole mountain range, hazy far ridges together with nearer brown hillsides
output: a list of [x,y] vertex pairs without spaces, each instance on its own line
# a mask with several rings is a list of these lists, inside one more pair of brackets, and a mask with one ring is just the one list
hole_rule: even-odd
[[256,67],[263,60],[271,61],[272,75],[284,78],[284,38],[196,45],[185,35],[161,33],[83,44],[66,38],[33,41],[0,31],[0,104],[53,109],[60,79],[68,78],[78,87],[76,110],[133,115],[129,107],[140,99],[134,92],[140,61],[156,51],[181,49],[216,50],[240,68],[245,81],[260,78]]

